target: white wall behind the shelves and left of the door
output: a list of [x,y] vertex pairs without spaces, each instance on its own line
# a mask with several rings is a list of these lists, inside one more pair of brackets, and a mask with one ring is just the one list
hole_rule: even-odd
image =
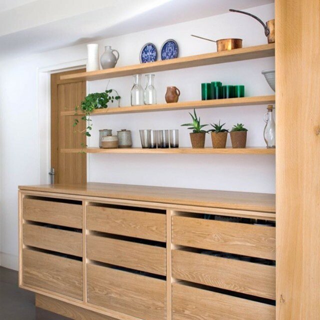
[[[262,20],[274,17],[271,4],[249,11]],[[243,46],[266,43],[258,22],[247,16],[227,13],[103,40],[99,42],[100,53],[104,44],[112,45],[120,52],[117,66],[121,66],[138,63],[139,50],[148,41],[155,43],[159,50],[165,39],[174,38],[179,44],[180,56],[215,50],[213,43],[192,38],[191,33],[213,39],[242,37]],[[78,45],[0,61],[0,257],[4,266],[17,267],[17,186],[39,183],[43,180],[40,167],[49,166],[49,163],[40,163],[43,160],[39,158],[43,146],[38,141],[45,142],[45,138],[41,139],[45,135],[45,126],[40,123],[38,130],[38,114],[45,114],[45,106],[37,105],[37,69],[62,67],[65,62],[84,59],[85,56],[85,45]],[[158,72],[155,75],[158,102],[164,101],[167,85],[175,85],[181,90],[180,101],[200,99],[200,83],[211,80],[245,84],[246,95],[273,94],[260,73],[262,69],[272,67],[274,59],[263,58]],[[106,83],[107,80],[92,81],[88,88],[91,92],[100,91]],[[131,86],[131,77],[111,79],[109,83],[109,87],[116,88],[121,95],[121,105],[129,105]],[[198,114],[203,122],[221,119],[227,127],[243,122],[249,129],[248,146],[263,146],[265,107],[199,109]],[[120,128],[132,130],[134,146],[140,145],[140,128],[178,128],[180,145],[189,146],[188,130],[180,127],[187,121],[186,110],[95,116],[88,144],[97,145],[97,130],[100,128],[112,128],[114,133]],[[210,146],[208,135],[206,145]],[[90,154],[88,160],[89,181],[274,192],[272,155]]]

